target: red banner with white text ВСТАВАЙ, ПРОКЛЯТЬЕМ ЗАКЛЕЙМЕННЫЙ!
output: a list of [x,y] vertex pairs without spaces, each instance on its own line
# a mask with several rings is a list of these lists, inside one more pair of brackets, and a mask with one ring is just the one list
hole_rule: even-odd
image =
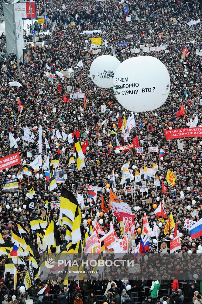
[[183,137],[202,137],[202,127],[164,130],[166,139]]

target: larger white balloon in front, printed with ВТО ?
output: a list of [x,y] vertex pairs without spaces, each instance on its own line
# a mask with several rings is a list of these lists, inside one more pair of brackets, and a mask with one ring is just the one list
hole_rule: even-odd
[[170,92],[165,65],[152,56],[132,57],[115,71],[113,89],[118,102],[129,111],[146,112],[159,108]]

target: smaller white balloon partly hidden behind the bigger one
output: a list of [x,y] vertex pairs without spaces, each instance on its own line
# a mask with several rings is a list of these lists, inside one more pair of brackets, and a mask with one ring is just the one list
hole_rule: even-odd
[[111,88],[113,77],[120,61],[110,55],[95,58],[91,64],[90,76],[95,85],[100,88]]

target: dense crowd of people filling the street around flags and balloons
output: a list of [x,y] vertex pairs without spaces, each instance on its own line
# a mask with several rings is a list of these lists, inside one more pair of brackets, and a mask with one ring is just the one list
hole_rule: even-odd
[[[128,11],[126,9],[128,6]],[[37,15],[43,16],[44,5],[42,1],[36,2]],[[126,9],[126,11],[125,11]],[[12,229],[17,230],[21,223],[28,231],[28,239],[31,241],[35,252],[35,258],[40,265],[42,261],[42,249],[37,245],[36,231],[31,229],[30,219],[35,216],[40,219],[51,218],[55,223],[59,220],[59,208],[45,208],[46,201],[60,200],[61,190],[65,188],[77,194],[83,195],[85,208],[81,209],[82,217],[80,230],[84,240],[86,229],[91,224],[84,226],[84,219],[103,220],[101,224],[105,233],[110,230],[110,222],[113,223],[118,238],[122,238],[120,224],[113,216],[111,210],[102,212],[102,192],[98,192],[97,200],[88,199],[86,185],[104,188],[104,203],[109,206],[109,193],[106,185],[109,182],[108,175],[114,169],[116,189],[114,193],[132,207],[135,214],[136,232],[142,228],[144,212],[146,212],[150,227],[158,227],[158,240],[170,240],[173,229],[164,234],[165,219],[159,219],[153,213],[152,204],[163,202],[167,216],[173,214],[177,230],[181,233],[181,250],[170,260],[157,259],[153,253],[149,253],[148,259],[140,259],[141,274],[134,275],[122,269],[111,267],[105,271],[104,277],[95,279],[74,281],[69,278],[68,284],[63,283],[59,275],[56,280],[51,277],[38,277],[38,269],[35,269],[34,283],[25,292],[20,292],[24,286],[24,278],[29,267],[29,257],[22,257],[23,263],[15,264],[19,277],[15,286],[15,275],[5,272],[5,264],[8,263],[8,254],[0,255],[0,304],[25,304],[26,300],[33,299],[38,304],[182,304],[202,302],[201,257],[196,254],[198,246],[202,245],[201,237],[191,239],[190,233],[184,228],[186,219],[198,221],[202,217],[202,179],[201,160],[202,142],[200,137],[181,138],[180,140],[166,140],[164,129],[186,128],[187,124],[198,115],[199,126],[202,124],[201,98],[202,98],[202,68],[201,56],[196,55],[196,50],[202,49],[202,32],[200,23],[188,26],[190,20],[198,20],[201,17],[200,1],[160,0],[153,1],[53,1],[53,10],[50,1],[46,1],[48,13],[47,28],[52,30],[44,39],[43,47],[33,46],[33,61],[30,63],[20,61],[21,79],[18,79],[16,60],[5,59],[0,62],[0,157],[5,157],[19,152],[21,164],[0,171],[0,245],[11,247]],[[131,16],[131,21],[126,22],[126,17]],[[173,19],[175,18],[175,19]],[[44,28],[44,27],[43,27]],[[35,22],[37,35],[42,28]],[[84,30],[98,30],[99,34],[81,34]],[[24,39],[30,41],[29,26],[24,30]],[[45,29],[44,29],[45,30]],[[36,36],[37,36],[36,35]],[[128,35],[132,37],[127,38]],[[101,52],[93,54],[91,38],[101,37]],[[29,39],[28,39],[29,38]],[[28,40],[27,40],[28,39]],[[1,36],[3,45],[5,34]],[[128,45],[118,46],[117,43]],[[135,114],[136,127],[130,131],[128,143],[131,143],[137,135],[140,146],[144,147],[143,154],[137,154],[136,149],[129,149],[120,154],[115,153],[117,146],[115,133],[121,145],[126,145],[122,137],[122,131],[118,128],[119,116],[123,121],[131,112],[122,108],[114,96],[113,90],[97,87],[89,76],[92,61],[99,55],[114,55],[122,62],[133,56],[143,56],[141,52],[134,54],[133,49],[141,46],[156,47],[165,45],[165,50],[150,52],[161,60],[169,71],[171,89],[165,104],[151,112],[139,112]],[[31,46],[31,45],[30,45]],[[183,49],[187,47],[187,57],[182,57]],[[83,67],[78,67],[82,60]],[[71,74],[68,70],[73,71]],[[53,81],[49,81],[46,72],[55,74]],[[56,72],[63,73],[59,76]],[[19,81],[20,87],[10,87],[10,81]],[[68,87],[74,92],[83,92],[86,96],[87,106],[84,107],[84,99],[70,98]],[[60,89],[59,89],[60,88]],[[68,102],[63,101],[63,97]],[[18,98],[24,107],[18,112]],[[186,116],[177,117],[181,103],[185,107]],[[106,112],[101,112],[101,105],[106,105]],[[86,109],[85,109],[86,108]],[[116,125],[116,129],[113,127]],[[39,152],[38,130],[43,129],[42,153]],[[24,128],[33,132],[32,142],[22,139]],[[79,130],[79,141],[88,141],[89,150],[85,153],[85,167],[77,170],[74,164],[69,166],[68,158],[74,153],[74,147],[68,140],[57,138],[53,129],[64,132],[67,135]],[[14,136],[17,147],[9,146],[9,132]],[[45,146],[45,138],[50,148]],[[183,150],[178,148],[178,141],[183,143]],[[102,145],[98,145],[101,142]],[[56,144],[57,143],[57,144]],[[158,147],[165,150],[163,159],[158,154],[149,154],[148,148]],[[31,156],[29,153],[31,153]],[[48,182],[42,168],[37,172],[29,166],[36,155],[50,155],[58,157],[59,168],[64,170],[67,178],[64,183],[58,183],[56,189],[49,192]],[[129,169],[143,166],[152,168],[153,163],[159,166],[159,178],[167,187],[167,193],[162,192],[162,187],[157,191],[152,181],[147,182],[147,192],[139,192],[125,195],[125,185],[121,185],[122,166],[130,161]],[[135,167],[134,167],[135,166]],[[29,173],[18,178],[18,191],[3,192],[3,186],[17,176],[23,168],[29,168]],[[166,173],[171,170],[176,177],[176,185],[168,185]],[[39,176],[37,176],[39,174]],[[135,172],[133,171],[133,174]],[[30,189],[34,187],[34,209],[28,206]],[[173,190],[175,190],[173,192]],[[172,191],[172,192],[171,192]],[[183,191],[184,195],[180,195]],[[157,197],[159,199],[157,199]],[[150,199],[148,201],[148,199]],[[193,201],[196,201],[193,204]],[[190,208],[187,208],[189,207]],[[135,207],[139,207],[139,210]],[[47,214],[48,212],[48,214]],[[194,213],[193,213],[194,212]],[[47,219],[48,215],[48,219]],[[65,239],[66,228],[57,226],[63,247],[68,245]],[[45,229],[46,230],[46,229]],[[134,239],[139,243],[141,233],[136,233]],[[0,246],[0,247],[1,247]],[[1,248],[0,248],[1,250]],[[131,248],[129,248],[129,251]],[[194,255],[190,256],[187,251]],[[111,254],[108,252],[108,257]],[[12,261],[10,262],[12,263]],[[186,275],[184,275],[186,273]],[[47,285],[47,286],[46,286]],[[130,285],[131,289],[127,288]],[[40,289],[46,286],[42,294]],[[15,288],[16,287],[16,288]],[[14,290],[15,289],[15,290]],[[166,302],[166,303],[165,303]]]

